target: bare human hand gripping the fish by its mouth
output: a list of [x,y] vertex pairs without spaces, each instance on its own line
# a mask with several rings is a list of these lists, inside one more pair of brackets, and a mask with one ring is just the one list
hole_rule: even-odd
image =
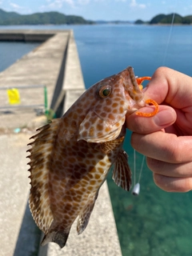
[[[162,190],[192,190],[192,78],[161,67],[144,91],[146,99],[162,105],[151,118],[127,115],[126,126],[134,132],[131,145],[146,155],[154,182]],[[151,107],[139,112],[151,112]]]

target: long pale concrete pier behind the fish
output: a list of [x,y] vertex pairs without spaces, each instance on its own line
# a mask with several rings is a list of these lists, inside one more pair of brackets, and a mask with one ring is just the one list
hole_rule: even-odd
[[[42,84],[48,91],[49,106],[56,114],[66,111],[85,90],[73,31],[2,30],[0,40],[42,42],[0,73],[0,87]],[[40,94],[42,92],[37,97],[37,90],[30,93],[25,90],[22,103],[38,105],[43,100]],[[0,99],[2,102],[1,96]],[[90,223],[81,235],[77,235],[74,223],[62,250],[54,243],[39,246],[41,233],[27,205],[30,179],[26,171],[26,144],[34,129],[46,123],[46,118],[38,117],[32,109],[13,110],[9,114],[4,111],[0,115],[0,225],[3,230],[0,255],[122,255],[106,182],[99,192]],[[15,134],[15,128],[20,128],[20,133]]]

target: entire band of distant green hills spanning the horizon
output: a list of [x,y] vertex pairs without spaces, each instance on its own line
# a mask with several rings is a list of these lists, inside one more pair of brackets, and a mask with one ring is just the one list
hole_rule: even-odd
[[[1,25],[84,25],[84,24],[135,24],[135,25],[163,25],[172,22],[173,14],[158,14],[149,22],[138,19],[135,22],[130,21],[90,21],[76,15],[61,14],[57,11],[50,11],[35,14],[18,14],[16,12],[7,12],[0,9],[0,26]],[[174,24],[192,24],[192,15],[182,17],[174,14]]]

